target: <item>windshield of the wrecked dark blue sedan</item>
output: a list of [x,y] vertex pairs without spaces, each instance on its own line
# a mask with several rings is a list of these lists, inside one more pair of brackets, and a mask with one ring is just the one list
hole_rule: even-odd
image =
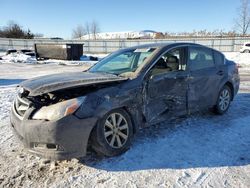
[[116,75],[126,72],[135,72],[138,67],[145,64],[146,59],[152,55],[154,50],[155,48],[139,48],[114,53],[98,62],[89,71],[105,72]]

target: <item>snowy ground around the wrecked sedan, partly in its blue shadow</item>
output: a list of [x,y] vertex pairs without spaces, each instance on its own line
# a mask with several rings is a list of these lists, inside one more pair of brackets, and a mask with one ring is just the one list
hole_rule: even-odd
[[[240,56],[239,62],[248,60]],[[240,92],[223,116],[205,112],[143,129],[130,150],[113,158],[90,153],[52,162],[28,154],[9,125],[15,86],[87,67],[0,64],[0,187],[250,187],[250,70],[245,67]]]

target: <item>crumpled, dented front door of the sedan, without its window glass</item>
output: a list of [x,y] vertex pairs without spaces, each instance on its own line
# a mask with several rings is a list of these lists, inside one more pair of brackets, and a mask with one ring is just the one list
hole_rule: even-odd
[[[179,64],[183,67],[184,48],[178,48]],[[151,72],[153,72],[151,70]],[[149,124],[184,115],[187,112],[188,72],[172,70],[151,75],[144,96],[144,115]]]

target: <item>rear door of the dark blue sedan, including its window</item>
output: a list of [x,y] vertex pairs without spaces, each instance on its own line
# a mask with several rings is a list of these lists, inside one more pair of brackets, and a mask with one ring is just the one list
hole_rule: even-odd
[[205,47],[188,49],[190,70],[188,109],[198,111],[216,103],[220,79],[224,72],[215,65],[213,50]]

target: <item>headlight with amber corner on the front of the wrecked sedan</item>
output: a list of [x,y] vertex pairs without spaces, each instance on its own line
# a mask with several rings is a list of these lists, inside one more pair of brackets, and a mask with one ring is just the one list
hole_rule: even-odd
[[58,120],[64,116],[73,114],[84,100],[85,97],[78,97],[50,106],[44,106],[33,115],[32,119]]

